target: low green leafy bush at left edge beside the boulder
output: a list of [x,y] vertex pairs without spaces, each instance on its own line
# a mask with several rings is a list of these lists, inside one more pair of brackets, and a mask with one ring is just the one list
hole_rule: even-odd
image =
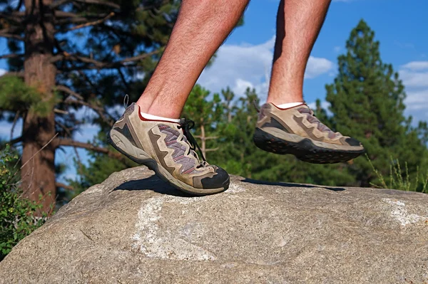
[[46,220],[36,216],[41,206],[21,197],[17,162],[18,154],[6,145],[0,152],[0,261]]

